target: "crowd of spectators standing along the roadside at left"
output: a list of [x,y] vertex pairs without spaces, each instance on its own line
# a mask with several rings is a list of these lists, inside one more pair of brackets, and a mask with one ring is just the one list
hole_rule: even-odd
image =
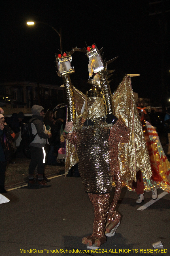
[[[5,190],[5,170],[7,164],[13,164],[15,156],[16,142],[20,135],[20,127],[24,119],[24,113],[13,113],[11,117],[5,119],[4,111],[0,108],[0,193],[7,193]],[[5,122],[6,120],[6,122]],[[32,118],[29,120],[31,132],[34,139],[29,148],[31,151],[31,162],[29,164],[28,188],[50,187],[47,182],[50,181],[44,175],[44,165],[57,166],[64,164],[65,159],[58,159],[60,151],[65,152],[65,139],[62,135],[66,122],[66,113],[63,109],[48,110],[44,114],[42,106],[34,105],[32,107]],[[61,149],[59,151],[59,149]],[[59,153],[58,153],[59,152]],[[62,158],[63,158],[62,154]],[[59,157],[58,157],[59,158]],[[69,176],[80,177],[78,165],[73,167]],[[35,179],[37,176],[37,180]]]

